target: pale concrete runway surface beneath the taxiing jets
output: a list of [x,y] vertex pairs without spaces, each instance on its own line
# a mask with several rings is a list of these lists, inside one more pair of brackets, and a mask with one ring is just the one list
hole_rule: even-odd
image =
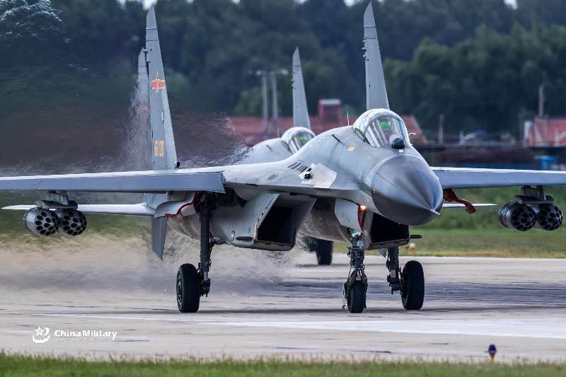
[[[383,258],[368,256],[367,310],[353,315],[342,310],[345,255],[319,267],[301,251],[272,256],[222,247],[213,255],[212,294],[199,313],[182,314],[175,272],[196,260],[194,245],[158,262],[137,240],[120,240],[129,242],[124,250],[89,242],[81,252],[0,253],[0,349],[88,358],[483,360],[495,343],[498,360],[566,360],[566,260],[417,257],[425,303],[407,312],[386,284]],[[51,335],[117,335],[35,344],[38,326]]]

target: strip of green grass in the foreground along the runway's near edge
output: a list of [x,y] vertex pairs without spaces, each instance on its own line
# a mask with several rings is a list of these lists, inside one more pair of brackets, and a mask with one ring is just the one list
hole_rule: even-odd
[[84,361],[0,354],[1,376],[564,376],[566,364],[423,361]]

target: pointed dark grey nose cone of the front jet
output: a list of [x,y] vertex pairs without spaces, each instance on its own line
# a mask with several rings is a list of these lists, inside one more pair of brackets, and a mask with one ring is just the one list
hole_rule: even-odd
[[427,163],[411,156],[398,156],[377,170],[373,199],[388,219],[422,225],[439,215],[442,187]]

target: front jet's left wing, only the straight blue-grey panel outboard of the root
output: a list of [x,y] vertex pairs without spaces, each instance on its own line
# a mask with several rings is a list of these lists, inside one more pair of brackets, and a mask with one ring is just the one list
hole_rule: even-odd
[[124,173],[34,175],[0,178],[0,191],[141,192],[168,191],[224,192],[222,173],[183,170],[151,170]]

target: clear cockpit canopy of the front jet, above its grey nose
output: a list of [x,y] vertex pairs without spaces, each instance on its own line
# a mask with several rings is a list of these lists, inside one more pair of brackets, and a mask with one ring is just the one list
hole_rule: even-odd
[[354,123],[354,132],[371,146],[388,146],[393,149],[410,146],[405,122],[391,110],[373,109],[364,112]]

